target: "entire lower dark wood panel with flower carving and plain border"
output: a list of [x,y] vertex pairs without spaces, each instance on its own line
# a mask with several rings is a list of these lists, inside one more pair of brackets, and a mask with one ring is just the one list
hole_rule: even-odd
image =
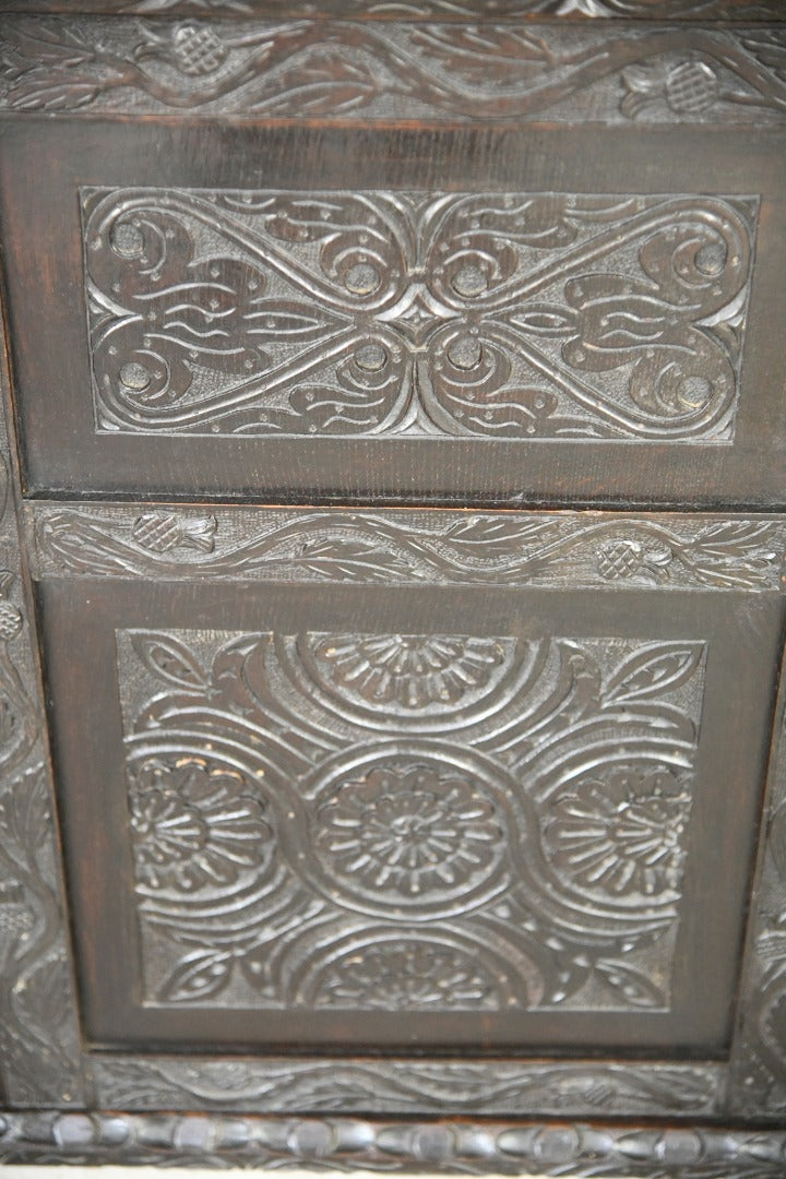
[[725,595],[121,586],[42,584],[97,1042],[722,1050],[767,697]]

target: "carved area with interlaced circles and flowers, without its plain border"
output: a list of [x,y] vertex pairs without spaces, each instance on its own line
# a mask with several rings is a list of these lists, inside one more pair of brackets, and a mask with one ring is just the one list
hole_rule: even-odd
[[668,1008],[704,644],[422,639],[487,657],[448,712],[333,679],[370,635],[118,644],[150,1000]]

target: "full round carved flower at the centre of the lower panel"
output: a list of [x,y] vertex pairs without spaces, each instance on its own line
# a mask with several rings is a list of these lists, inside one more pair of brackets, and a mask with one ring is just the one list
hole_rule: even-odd
[[425,765],[375,769],[344,782],[318,818],[316,847],[335,871],[405,897],[484,875],[503,834],[473,782]]

